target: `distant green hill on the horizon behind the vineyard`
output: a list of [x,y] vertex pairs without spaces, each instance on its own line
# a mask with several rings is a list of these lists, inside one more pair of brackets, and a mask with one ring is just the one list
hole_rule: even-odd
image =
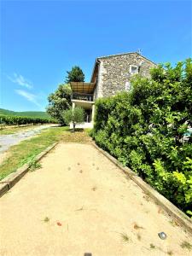
[[49,118],[49,114],[41,111],[25,111],[25,112],[15,112],[8,109],[0,108],[0,114],[4,115],[19,115],[28,117],[38,117],[38,118]]

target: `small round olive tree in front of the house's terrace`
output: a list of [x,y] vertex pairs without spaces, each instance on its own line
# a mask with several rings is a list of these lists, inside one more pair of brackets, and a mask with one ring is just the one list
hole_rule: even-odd
[[62,118],[65,123],[69,125],[71,122],[73,123],[73,131],[75,131],[75,125],[77,123],[84,122],[84,109],[83,108],[69,108],[62,112]]

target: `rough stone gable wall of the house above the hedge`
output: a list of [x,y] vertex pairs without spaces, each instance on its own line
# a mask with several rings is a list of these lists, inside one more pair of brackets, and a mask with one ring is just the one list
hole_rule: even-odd
[[139,67],[138,73],[149,77],[149,70],[155,64],[137,53],[111,55],[98,59],[100,63],[95,98],[113,96],[125,90],[126,82],[131,79],[131,65]]

